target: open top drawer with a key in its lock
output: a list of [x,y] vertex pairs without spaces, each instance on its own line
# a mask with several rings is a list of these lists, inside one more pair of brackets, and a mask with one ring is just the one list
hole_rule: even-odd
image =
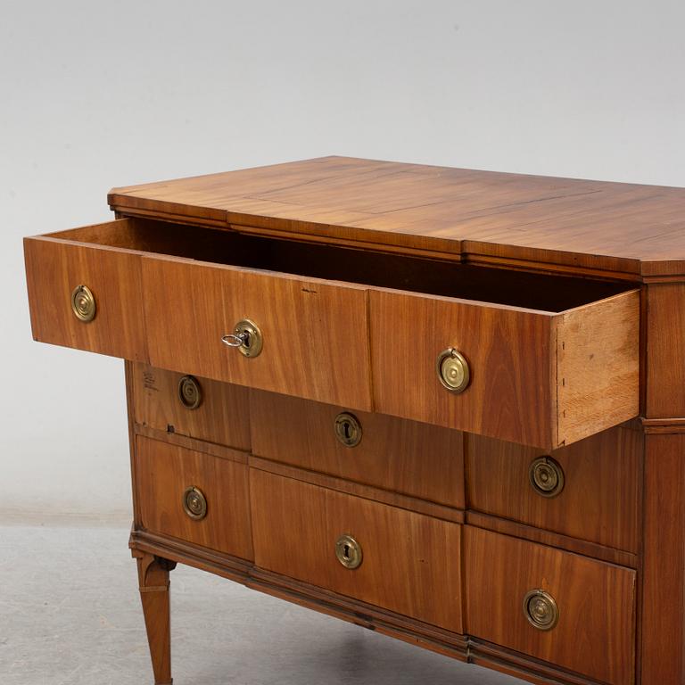
[[638,413],[630,284],[149,219],[25,252],[43,342],[545,449]]

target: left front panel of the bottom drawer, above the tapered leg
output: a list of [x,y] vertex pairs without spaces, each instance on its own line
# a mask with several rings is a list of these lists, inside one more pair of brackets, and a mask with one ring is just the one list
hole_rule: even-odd
[[246,465],[141,435],[136,437],[135,464],[138,524],[253,558]]

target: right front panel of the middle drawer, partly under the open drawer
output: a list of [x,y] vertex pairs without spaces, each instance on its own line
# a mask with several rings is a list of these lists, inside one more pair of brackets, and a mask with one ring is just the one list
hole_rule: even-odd
[[469,506],[637,554],[642,452],[621,426],[551,452],[469,434]]

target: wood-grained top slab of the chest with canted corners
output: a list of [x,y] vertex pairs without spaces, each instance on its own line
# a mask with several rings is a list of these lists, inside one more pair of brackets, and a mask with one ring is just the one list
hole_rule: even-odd
[[323,157],[114,188],[128,215],[472,260],[685,275],[685,188]]

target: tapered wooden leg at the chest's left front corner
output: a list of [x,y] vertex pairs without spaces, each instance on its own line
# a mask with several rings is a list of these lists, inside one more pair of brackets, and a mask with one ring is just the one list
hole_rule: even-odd
[[171,623],[169,570],[176,565],[161,557],[133,551],[138,566],[145,631],[153,661],[155,685],[171,685]]

